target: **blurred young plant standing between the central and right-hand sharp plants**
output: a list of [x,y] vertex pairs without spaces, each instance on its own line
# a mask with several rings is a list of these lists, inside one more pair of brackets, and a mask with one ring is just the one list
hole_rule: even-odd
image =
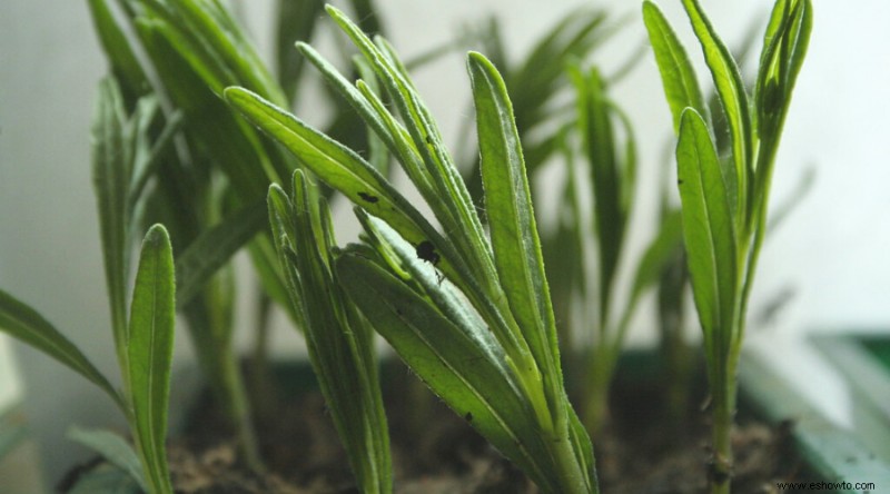
[[[636,142],[627,117],[609,98],[606,82],[599,70],[593,68],[585,72],[573,67],[571,75],[577,93],[576,126],[593,192],[594,235],[590,244],[596,246],[599,260],[595,287],[599,317],[593,325],[594,339],[586,360],[583,389],[584,425],[595,434],[606,416],[609,388],[631,317],[642,295],[659,279],[672,250],[680,243],[681,230],[679,215],[668,215],[663,219],[636,263],[627,300],[619,320],[614,322],[613,298],[636,187]],[[616,128],[616,124],[621,127]],[[620,132],[625,136],[623,146]],[[574,228],[584,231],[580,223]]]

